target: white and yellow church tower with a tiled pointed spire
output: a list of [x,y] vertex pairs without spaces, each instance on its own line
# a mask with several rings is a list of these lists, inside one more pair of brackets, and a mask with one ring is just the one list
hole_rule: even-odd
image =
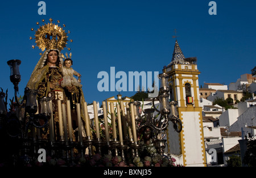
[[196,57],[185,58],[177,40],[171,63],[163,73],[170,75],[170,100],[177,101],[177,111],[183,124],[180,133],[170,123],[167,149],[184,166],[206,166],[202,108],[199,106],[199,81]]

